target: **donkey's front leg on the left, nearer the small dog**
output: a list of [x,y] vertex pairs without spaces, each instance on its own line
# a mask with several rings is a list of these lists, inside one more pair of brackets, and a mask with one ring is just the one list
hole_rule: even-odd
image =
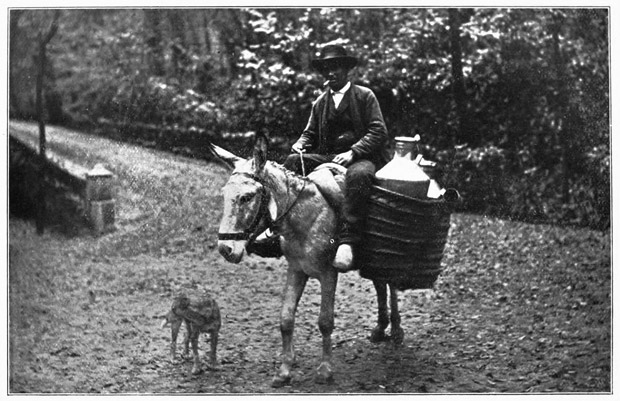
[[295,362],[293,331],[295,329],[295,312],[297,304],[304,292],[308,276],[301,271],[293,271],[289,267],[286,273],[286,286],[280,314],[280,331],[282,332],[282,364],[271,385],[282,387],[291,381],[291,369]]

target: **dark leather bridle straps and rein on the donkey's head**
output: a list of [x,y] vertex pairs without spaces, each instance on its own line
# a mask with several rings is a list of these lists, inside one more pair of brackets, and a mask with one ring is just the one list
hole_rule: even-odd
[[[258,235],[265,230],[267,227],[260,227],[261,221],[266,217],[269,222],[268,226],[274,227],[277,229],[278,223],[291,211],[293,206],[297,204],[299,197],[303,190],[306,188],[306,180],[303,181],[304,185],[295,197],[295,200],[286,208],[284,213],[280,216],[277,216],[275,220],[271,220],[269,217],[269,193],[265,189],[265,185],[260,177],[255,174],[247,173],[247,172],[236,172],[232,175],[242,175],[250,178],[260,185],[259,191],[261,194],[261,200],[258,207],[258,212],[252,219],[252,223],[243,231],[236,233],[218,233],[218,239],[220,241],[248,241],[248,245],[250,245]],[[287,185],[288,188],[288,185]]]

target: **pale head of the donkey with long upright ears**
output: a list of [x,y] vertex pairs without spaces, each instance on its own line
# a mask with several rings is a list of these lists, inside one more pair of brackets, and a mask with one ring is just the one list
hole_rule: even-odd
[[246,246],[269,225],[270,198],[262,184],[266,162],[266,139],[257,138],[252,159],[243,159],[211,145],[213,152],[233,172],[223,188],[224,210],[218,237],[218,250],[227,261],[239,263]]

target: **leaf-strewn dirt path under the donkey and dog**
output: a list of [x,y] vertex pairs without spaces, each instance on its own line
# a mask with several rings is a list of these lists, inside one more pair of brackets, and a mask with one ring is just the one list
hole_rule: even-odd
[[[11,123],[11,130],[34,126]],[[118,229],[38,237],[11,218],[10,392],[545,393],[610,391],[610,238],[589,230],[453,215],[435,290],[400,294],[405,342],[367,340],[370,282],[341,275],[336,382],[316,385],[319,288],[296,325],[291,386],[272,389],[283,260],[223,261],[215,249],[219,165],[50,127],[61,154],[118,177]],[[54,149],[54,148],[53,148]],[[218,371],[168,361],[160,318],[180,290],[208,288],[222,308]],[[200,343],[201,353],[208,348]]]

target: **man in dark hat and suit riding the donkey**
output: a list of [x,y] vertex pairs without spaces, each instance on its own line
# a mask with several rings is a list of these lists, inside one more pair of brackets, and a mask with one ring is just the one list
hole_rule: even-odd
[[[389,138],[372,90],[349,80],[350,71],[357,65],[355,57],[340,45],[327,45],[311,64],[325,77],[328,88],[313,103],[308,124],[284,166],[298,174],[329,162],[347,168],[343,221],[333,262],[338,271],[347,272],[355,269],[354,255],[375,172],[389,161]],[[267,230],[257,242],[272,235]]]

